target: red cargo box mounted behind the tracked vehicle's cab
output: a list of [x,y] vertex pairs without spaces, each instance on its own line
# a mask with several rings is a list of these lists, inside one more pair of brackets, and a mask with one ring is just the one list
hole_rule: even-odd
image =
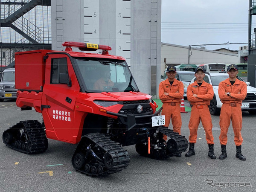
[[41,90],[44,86],[44,56],[51,50],[33,50],[15,53],[16,89]]

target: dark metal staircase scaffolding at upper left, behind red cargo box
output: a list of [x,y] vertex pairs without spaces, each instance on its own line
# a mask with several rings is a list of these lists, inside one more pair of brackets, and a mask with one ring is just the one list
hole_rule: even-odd
[[14,65],[14,53],[51,49],[50,0],[0,1],[0,71]]

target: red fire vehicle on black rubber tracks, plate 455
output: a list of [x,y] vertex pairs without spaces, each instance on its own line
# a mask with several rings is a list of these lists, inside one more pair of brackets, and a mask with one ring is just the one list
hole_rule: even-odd
[[[152,126],[161,109],[156,111],[151,96],[139,91],[124,58],[109,55],[111,47],[98,44],[63,46],[65,51],[15,53],[17,106],[35,108],[43,122],[17,123],[4,131],[3,143],[28,154],[47,150],[47,138],[79,143],[73,167],[93,176],[128,166],[129,155],[122,146],[135,144],[140,155],[155,159],[186,151],[184,136]],[[71,47],[102,49],[102,54],[73,52]],[[163,134],[170,137],[167,143]]]

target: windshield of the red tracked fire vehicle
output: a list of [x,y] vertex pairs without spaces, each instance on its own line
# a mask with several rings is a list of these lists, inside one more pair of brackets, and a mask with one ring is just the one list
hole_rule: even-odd
[[139,91],[125,61],[75,58],[86,92]]

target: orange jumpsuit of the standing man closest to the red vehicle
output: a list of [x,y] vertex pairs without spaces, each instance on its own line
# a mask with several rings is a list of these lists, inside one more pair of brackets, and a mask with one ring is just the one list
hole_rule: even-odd
[[[176,93],[177,91],[179,93]],[[184,94],[183,83],[177,79],[174,79],[171,86],[169,79],[166,79],[159,84],[158,92],[159,98],[163,102],[162,115],[165,115],[165,126],[169,127],[170,120],[172,118],[173,131],[180,134],[180,128],[182,125],[180,103]],[[165,95],[164,92],[169,93],[169,95]],[[163,139],[167,140],[167,136],[164,135]]]

